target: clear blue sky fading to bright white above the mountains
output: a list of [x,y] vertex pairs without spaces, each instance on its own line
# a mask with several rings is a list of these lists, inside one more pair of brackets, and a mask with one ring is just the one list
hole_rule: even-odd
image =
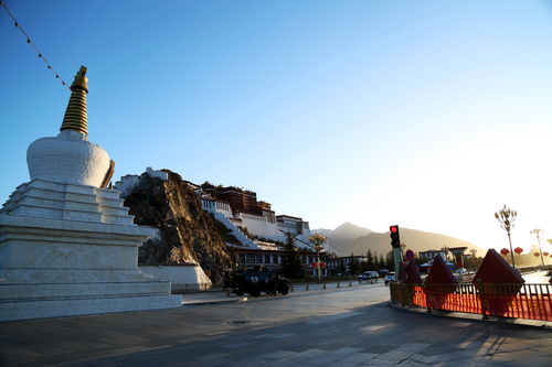
[[[311,228],[498,249],[508,204],[514,247],[552,238],[550,1],[6,2],[67,82],[88,67],[117,179],[170,169]],[[1,10],[0,55],[4,201],[70,94]]]

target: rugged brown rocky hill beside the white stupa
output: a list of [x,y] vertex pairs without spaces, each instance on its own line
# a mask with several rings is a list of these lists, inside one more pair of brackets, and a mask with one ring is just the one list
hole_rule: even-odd
[[159,239],[149,239],[139,249],[138,262],[167,265],[192,262],[201,266],[212,281],[235,261],[225,246],[225,227],[201,207],[198,195],[177,173],[166,171],[168,181],[142,174],[125,197],[135,223],[159,229]]

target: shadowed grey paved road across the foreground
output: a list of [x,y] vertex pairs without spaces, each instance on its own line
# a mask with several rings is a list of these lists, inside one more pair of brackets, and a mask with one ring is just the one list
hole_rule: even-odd
[[383,284],[0,323],[0,366],[551,366],[552,332],[412,313]]

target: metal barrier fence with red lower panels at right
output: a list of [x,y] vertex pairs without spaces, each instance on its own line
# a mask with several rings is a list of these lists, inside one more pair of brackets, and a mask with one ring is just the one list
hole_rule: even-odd
[[390,284],[403,306],[552,321],[550,284]]

